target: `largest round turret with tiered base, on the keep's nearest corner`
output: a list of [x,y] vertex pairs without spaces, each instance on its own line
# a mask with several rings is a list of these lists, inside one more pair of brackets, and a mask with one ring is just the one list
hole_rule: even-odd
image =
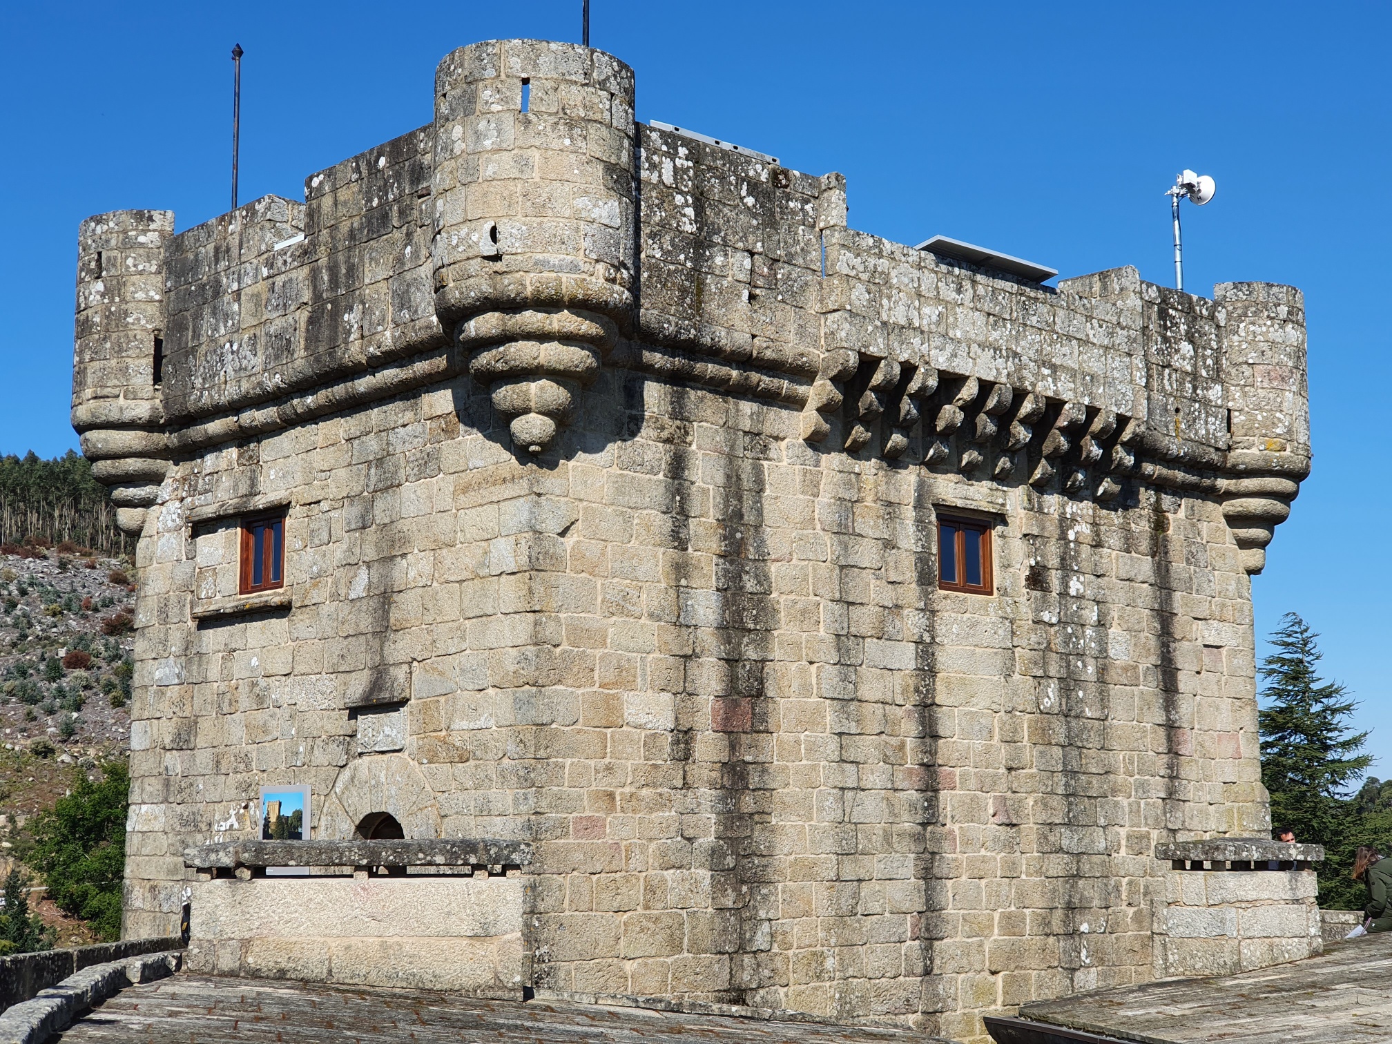
[[436,312],[537,454],[633,306],[633,72],[604,52],[489,40],[436,72]]

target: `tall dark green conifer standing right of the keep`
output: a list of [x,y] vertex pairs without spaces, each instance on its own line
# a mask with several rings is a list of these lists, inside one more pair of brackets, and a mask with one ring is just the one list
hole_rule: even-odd
[[1392,809],[1364,810],[1366,803],[1377,805],[1381,792],[1371,792],[1364,802],[1367,785],[1357,795],[1349,793],[1373,763],[1363,753],[1368,734],[1349,728],[1357,703],[1347,689],[1315,672],[1321,658],[1315,639],[1299,615],[1288,612],[1271,638],[1275,651],[1261,663],[1267,702],[1257,713],[1261,782],[1271,793],[1272,824],[1289,827],[1297,841],[1325,848],[1320,905],[1360,909],[1364,888],[1349,880],[1353,852],[1368,844],[1388,851]]

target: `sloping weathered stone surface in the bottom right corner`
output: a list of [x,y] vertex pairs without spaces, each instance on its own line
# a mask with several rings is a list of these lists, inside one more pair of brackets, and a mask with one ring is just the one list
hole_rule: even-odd
[[1040,1001],[1020,1015],[1136,1044],[1385,1044],[1392,1040],[1392,935],[1236,976]]

